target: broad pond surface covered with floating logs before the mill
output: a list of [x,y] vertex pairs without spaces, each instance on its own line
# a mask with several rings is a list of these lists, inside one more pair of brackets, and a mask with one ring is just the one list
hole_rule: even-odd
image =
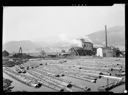
[[[30,76],[41,82],[42,86],[40,88],[30,87],[3,72],[5,78],[12,79],[13,91],[99,91],[99,87],[119,82],[125,77],[125,75],[121,75],[125,72],[125,58],[74,57],[65,59],[30,59],[22,66],[25,67],[27,72],[20,73],[20,75]],[[16,72],[16,66],[8,68]],[[5,67],[3,67],[3,70],[8,72]],[[90,90],[87,90],[87,88]],[[124,90],[125,84],[121,84],[109,91],[123,93]]]

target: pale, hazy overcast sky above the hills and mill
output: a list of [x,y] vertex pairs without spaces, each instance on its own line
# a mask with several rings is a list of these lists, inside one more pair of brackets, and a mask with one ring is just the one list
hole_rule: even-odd
[[3,43],[67,41],[125,25],[125,5],[4,7]]

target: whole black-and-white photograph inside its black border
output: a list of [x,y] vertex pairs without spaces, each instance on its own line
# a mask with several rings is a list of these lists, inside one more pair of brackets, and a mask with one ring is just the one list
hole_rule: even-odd
[[125,4],[4,6],[4,92],[126,93]]

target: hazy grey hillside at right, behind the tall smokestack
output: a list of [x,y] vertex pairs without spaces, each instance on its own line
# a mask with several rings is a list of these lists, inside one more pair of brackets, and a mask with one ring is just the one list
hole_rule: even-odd
[[[87,35],[88,38],[97,45],[105,45],[105,30]],[[115,26],[107,29],[108,46],[116,46],[120,49],[125,48],[125,28],[123,26]]]

